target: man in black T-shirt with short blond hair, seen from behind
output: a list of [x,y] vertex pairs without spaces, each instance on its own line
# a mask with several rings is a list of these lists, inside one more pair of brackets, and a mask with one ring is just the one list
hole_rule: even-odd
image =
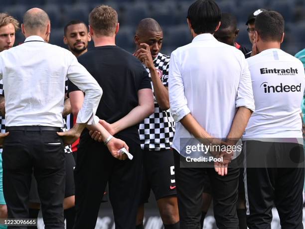
[[[138,124],[154,111],[148,72],[132,54],[116,46],[118,14],[100,5],[89,14],[94,48],[81,55],[79,62],[104,90],[97,115],[108,132],[126,141],[133,158],[118,161],[107,148],[83,131],[75,168],[74,229],[94,229],[106,184],[113,207],[116,229],[135,229],[140,200],[143,153]],[[69,85],[68,90],[79,90]],[[99,140],[99,135],[95,135]]]

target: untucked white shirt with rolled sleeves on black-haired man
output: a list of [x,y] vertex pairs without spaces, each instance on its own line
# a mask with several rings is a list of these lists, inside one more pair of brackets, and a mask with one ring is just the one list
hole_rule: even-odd
[[168,91],[171,114],[177,123],[172,147],[179,153],[180,138],[194,137],[179,122],[188,113],[211,136],[226,138],[236,108],[255,108],[243,53],[209,33],[197,35],[171,53]]

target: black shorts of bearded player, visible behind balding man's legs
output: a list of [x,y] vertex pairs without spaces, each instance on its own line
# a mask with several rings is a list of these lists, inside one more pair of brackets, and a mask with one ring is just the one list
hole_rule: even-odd
[[[72,153],[65,153],[65,170],[66,170],[66,181],[65,181],[65,198],[75,195],[74,186],[74,167],[75,161]],[[31,189],[29,195],[30,203],[40,203],[37,182],[32,175]]]

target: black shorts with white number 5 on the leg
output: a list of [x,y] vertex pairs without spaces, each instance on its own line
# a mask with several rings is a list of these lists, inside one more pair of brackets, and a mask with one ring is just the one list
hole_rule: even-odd
[[151,189],[156,200],[176,196],[172,150],[143,150],[143,186],[141,203],[148,203]]

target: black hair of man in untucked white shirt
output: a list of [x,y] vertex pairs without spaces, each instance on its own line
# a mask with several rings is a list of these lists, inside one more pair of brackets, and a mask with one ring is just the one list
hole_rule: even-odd
[[197,0],[189,6],[187,18],[196,34],[214,33],[221,11],[213,0]]

